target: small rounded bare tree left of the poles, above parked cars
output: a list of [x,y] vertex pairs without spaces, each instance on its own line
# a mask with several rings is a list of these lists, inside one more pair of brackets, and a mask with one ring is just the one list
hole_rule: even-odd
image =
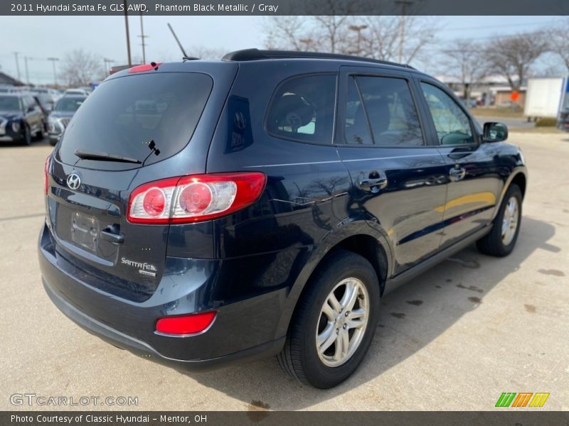
[[83,49],[73,50],[63,60],[63,79],[70,86],[87,86],[93,81],[105,78],[102,58]]

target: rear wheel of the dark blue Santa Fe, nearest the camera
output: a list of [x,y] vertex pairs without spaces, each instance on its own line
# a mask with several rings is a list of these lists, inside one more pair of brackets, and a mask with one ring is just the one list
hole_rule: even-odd
[[[365,258],[351,251],[340,250],[332,253],[319,266],[307,285],[294,311],[285,348],[277,355],[277,360],[285,372],[300,382],[320,389],[332,388],[356,371],[369,349],[378,322],[378,277]],[[340,312],[331,308],[329,297],[334,294],[336,300],[342,302],[342,296],[348,288],[354,288],[358,295],[352,297],[355,300],[353,307]],[[329,319],[324,313],[324,304],[328,307],[328,315],[339,320],[332,322]],[[367,313],[362,315],[366,310]],[[359,327],[349,328],[350,324],[359,324]],[[331,332],[327,333],[329,327]],[[338,349],[338,345],[340,348],[344,346],[346,339],[339,342],[334,334],[348,339],[345,353]],[[318,335],[326,344],[336,339],[321,354],[317,349]],[[325,339],[326,336],[329,337]],[[334,359],[337,353],[339,359]]]

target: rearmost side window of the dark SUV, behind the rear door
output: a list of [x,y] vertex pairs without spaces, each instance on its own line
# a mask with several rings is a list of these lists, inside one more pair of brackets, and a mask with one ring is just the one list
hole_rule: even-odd
[[267,111],[272,136],[331,143],[336,75],[306,75],[282,82]]

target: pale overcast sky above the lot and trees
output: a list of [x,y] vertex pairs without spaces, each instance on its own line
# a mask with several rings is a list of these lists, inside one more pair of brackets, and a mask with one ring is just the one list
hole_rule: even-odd
[[[178,60],[181,57],[167,23],[171,23],[184,44],[188,55],[192,46],[216,50],[262,48],[265,41],[265,17],[257,16],[145,16],[144,33],[147,38],[147,62],[150,60]],[[455,38],[489,39],[531,31],[551,25],[555,16],[442,16],[436,37],[440,43],[430,47],[433,55],[445,43]],[[139,16],[129,17],[133,61],[142,58]],[[53,70],[46,58],[62,58],[70,50],[83,48],[101,57],[127,63],[124,16],[1,16],[0,69],[16,77],[19,52],[21,80],[26,80],[24,57],[28,58],[28,74],[32,83],[52,83]],[[436,60],[426,65],[426,72],[440,72]]]

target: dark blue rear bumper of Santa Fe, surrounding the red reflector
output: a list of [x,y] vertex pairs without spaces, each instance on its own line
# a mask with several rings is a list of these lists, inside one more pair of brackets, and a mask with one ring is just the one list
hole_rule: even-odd
[[[228,261],[176,258],[176,276],[165,272],[149,300],[132,302],[83,283],[80,271],[70,274],[58,267],[64,260],[53,241],[44,225],[38,254],[43,286],[55,306],[88,332],[144,359],[178,370],[207,371],[276,354],[285,343],[285,336],[277,333],[284,288],[245,300],[216,299],[216,292],[225,293],[220,278],[227,267],[218,263]],[[217,316],[207,332],[191,337],[154,333],[159,317],[211,309]]]

